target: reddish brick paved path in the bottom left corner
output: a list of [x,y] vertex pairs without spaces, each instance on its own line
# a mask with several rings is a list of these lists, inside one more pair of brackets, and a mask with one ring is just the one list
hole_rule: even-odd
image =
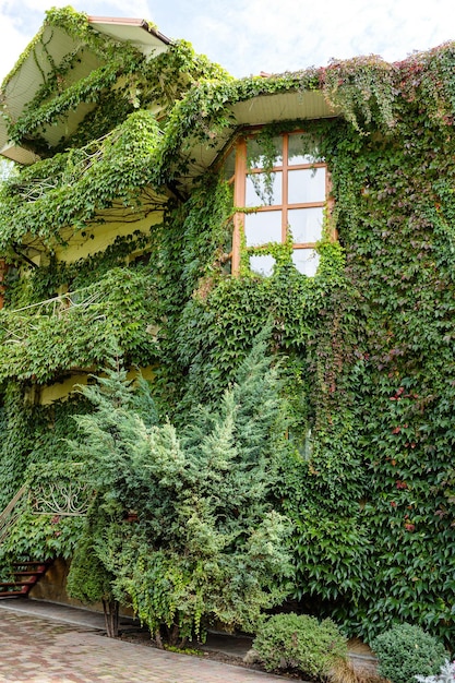
[[240,667],[113,640],[94,630],[0,611],[0,682],[278,683]]

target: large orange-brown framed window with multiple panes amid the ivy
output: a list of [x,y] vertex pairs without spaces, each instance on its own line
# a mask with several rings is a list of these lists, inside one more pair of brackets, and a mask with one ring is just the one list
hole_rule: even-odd
[[[306,275],[318,268],[315,243],[322,237],[324,207],[328,194],[326,166],[318,155],[302,152],[301,133],[284,133],[274,140],[272,168],[264,170],[265,159],[254,137],[237,143],[234,165],[234,203],[258,207],[254,213],[238,213],[232,240],[232,272],[240,266],[241,236],[250,251],[250,267],[270,275],[274,257],[258,248],[270,242],[284,243],[292,236],[292,261]],[[232,156],[228,157],[229,170]],[[270,160],[268,160],[270,164]],[[252,253],[253,252],[253,253]]]

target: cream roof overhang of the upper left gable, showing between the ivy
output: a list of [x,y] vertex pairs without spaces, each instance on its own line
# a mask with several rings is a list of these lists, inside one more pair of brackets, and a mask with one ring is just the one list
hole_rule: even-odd
[[[170,44],[169,38],[143,20],[89,16],[88,23],[101,35],[121,43],[130,43],[147,59],[166,51]],[[46,79],[51,73],[49,62],[58,65],[68,55],[79,51],[83,51],[83,59],[75,62],[71,70],[71,83],[87,76],[100,67],[101,62],[86,45],[79,44],[63,29],[48,25],[44,27],[41,45],[37,43],[28,52],[20,68],[13,72],[2,93],[2,104],[5,105],[8,115],[13,121],[24,113],[27,104],[43,85],[44,77]],[[93,105],[82,104],[75,111],[70,112],[64,123],[49,127],[44,135],[46,142],[52,146],[62,136],[71,135],[92,108]],[[7,122],[1,118],[0,154],[20,164],[33,164],[37,159],[36,154],[26,149],[25,146],[10,143]]]

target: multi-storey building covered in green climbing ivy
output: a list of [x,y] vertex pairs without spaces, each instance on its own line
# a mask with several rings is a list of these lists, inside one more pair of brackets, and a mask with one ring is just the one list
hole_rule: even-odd
[[[289,599],[367,638],[453,637],[455,45],[235,80],[67,8],[1,107],[0,504],[71,479],[72,390],[108,359],[185,423],[270,329]],[[10,550],[71,555],[68,519]]]

